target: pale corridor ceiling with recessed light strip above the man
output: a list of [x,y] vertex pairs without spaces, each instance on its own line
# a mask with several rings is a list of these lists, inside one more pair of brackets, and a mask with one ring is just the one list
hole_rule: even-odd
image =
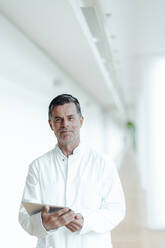
[[127,118],[143,88],[139,61],[165,53],[164,10],[164,0],[0,0],[1,13],[28,39]]

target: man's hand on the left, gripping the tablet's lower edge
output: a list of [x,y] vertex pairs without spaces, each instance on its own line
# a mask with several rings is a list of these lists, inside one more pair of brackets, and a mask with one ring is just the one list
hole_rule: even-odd
[[61,226],[66,226],[74,220],[75,213],[68,209],[63,208],[55,213],[49,213],[49,207],[45,207],[42,211],[42,223],[47,231],[57,229]]

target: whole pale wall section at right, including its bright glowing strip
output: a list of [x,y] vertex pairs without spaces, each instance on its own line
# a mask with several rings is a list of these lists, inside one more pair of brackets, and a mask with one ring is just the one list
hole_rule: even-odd
[[144,91],[139,99],[138,157],[146,190],[148,227],[165,228],[165,58],[143,58]]

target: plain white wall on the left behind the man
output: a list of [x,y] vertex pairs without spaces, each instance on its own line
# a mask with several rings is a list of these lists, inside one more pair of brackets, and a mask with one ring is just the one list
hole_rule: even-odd
[[23,231],[17,216],[28,164],[56,143],[47,123],[49,102],[60,93],[75,95],[85,116],[82,136],[100,151],[104,114],[87,92],[3,16],[0,30],[1,246],[29,248],[35,246],[35,238]]

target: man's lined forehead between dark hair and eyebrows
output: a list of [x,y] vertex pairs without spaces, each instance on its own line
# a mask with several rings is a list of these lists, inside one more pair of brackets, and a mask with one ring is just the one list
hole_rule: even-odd
[[55,106],[52,111],[52,115],[54,116],[75,115],[75,114],[77,114],[77,109],[76,109],[76,105],[73,102]]

